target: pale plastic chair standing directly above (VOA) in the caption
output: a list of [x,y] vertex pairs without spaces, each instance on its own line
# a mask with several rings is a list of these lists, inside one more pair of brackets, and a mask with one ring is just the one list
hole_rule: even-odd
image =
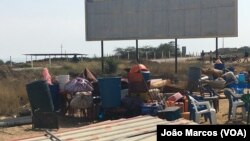
[[245,110],[245,103],[241,100],[242,95],[235,94],[233,90],[230,88],[225,88],[224,94],[227,97],[228,102],[229,102],[228,120],[236,119],[236,112],[237,112],[238,107],[242,108],[242,114],[244,118],[246,115],[246,110]]

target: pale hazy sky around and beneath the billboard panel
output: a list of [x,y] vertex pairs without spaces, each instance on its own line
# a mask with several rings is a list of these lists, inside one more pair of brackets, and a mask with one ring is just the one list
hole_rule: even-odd
[[[250,46],[250,1],[238,0],[238,37],[219,38],[219,48]],[[174,40],[139,40],[157,47]],[[215,50],[215,38],[179,39],[187,53]],[[101,55],[100,41],[86,41],[84,0],[0,0],[0,59],[18,62],[29,53]],[[104,55],[135,41],[104,41]]]

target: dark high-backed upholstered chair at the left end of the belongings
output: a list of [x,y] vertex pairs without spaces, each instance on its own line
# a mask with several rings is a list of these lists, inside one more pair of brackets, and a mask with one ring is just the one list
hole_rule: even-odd
[[26,85],[26,90],[31,105],[33,128],[58,129],[57,114],[46,81],[31,82]]

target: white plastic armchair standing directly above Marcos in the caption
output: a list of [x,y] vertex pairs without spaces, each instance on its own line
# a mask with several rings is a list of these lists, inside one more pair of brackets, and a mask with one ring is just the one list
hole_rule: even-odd
[[[210,103],[208,101],[197,101],[192,96],[188,95],[188,98],[191,104],[194,106],[195,110],[195,122],[200,123],[200,118],[204,114],[208,114],[210,116],[210,123],[217,124],[216,120],[216,111],[214,108],[211,108]],[[201,108],[205,106],[205,108]]]

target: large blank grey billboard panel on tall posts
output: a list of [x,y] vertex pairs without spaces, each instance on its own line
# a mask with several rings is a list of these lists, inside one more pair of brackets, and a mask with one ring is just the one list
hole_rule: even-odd
[[86,40],[238,36],[237,0],[85,0]]

